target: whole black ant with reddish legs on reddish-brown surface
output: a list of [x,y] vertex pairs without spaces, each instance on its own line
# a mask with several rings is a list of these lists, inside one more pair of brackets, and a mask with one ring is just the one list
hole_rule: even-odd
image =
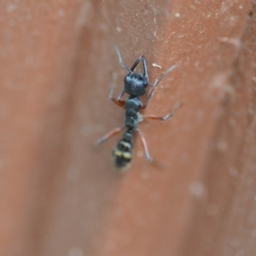
[[[173,65],[172,67],[168,68],[165,73],[162,73],[160,75],[159,79],[155,80],[154,84],[150,84],[148,82],[147,61],[144,56],[138,57],[137,61],[135,61],[131,68],[129,68],[126,67],[123,63],[122,57],[119,53],[119,49],[116,46],[115,50],[119,57],[120,66],[124,67],[129,73],[125,76],[125,88],[120,93],[118,99],[113,98],[113,85],[109,90],[109,99],[119,107],[125,108],[125,125],[113,129],[113,131],[110,131],[104,137],[100,138],[96,144],[100,145],[104,143],[106,140],[108,140],[108,138],[119,134],[119,132],[125,130],[126,128],[123,138],[119,140],[116,147],[113,148],[112,153],[113,165],[117,168],[119,172],[125,172],[125,170],[131,165],[133,148],[132,138],[134,135],[134,131],[137,131],[140,137],[140,141],[143,144],[146,160],[148,160],[149,162],[153,162],[153,159],[148,152],[148,145],[146,143],[145,137],[143,136],[142,131],[138,128],[138,124],[142,122],[145,118],[165,121],[167,119],[171,119],[173,113],[168,113],[164,117],[158,117],[155,115],[143,115],[139,113],[139,111],[141,109],[147,108],[148,103],[154,95],[154,90],[156,86],[160,83],[161,79],[163,79],[168,73],[171,73],[172,70],[177,67],[177,65]],[[140,61],[142,61],[143,63],[143,74],[134,72]],[[143,104],[140,96],[144,96],[146,94],[148,85],[152,87],[152,90],[148,95],[146,103]],[[124,96],[125,93],[128,94],[129,97],[125,101],[122,101],[121,97]]]

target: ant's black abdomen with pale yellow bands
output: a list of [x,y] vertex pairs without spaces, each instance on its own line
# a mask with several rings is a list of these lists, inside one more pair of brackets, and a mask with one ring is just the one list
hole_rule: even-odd
[[115,148],[113,148],[112,161],[113,166],[119,172],[125,172],[125,170],[131,165],[132,160],[132,144],[120,140]]

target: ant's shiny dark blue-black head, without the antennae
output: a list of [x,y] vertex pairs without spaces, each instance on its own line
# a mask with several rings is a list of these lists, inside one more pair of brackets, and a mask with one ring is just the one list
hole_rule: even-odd
[[125,76],[125,92],[132,96],[143,96],[147,91],[148,78],[140,73],[129,73]]

